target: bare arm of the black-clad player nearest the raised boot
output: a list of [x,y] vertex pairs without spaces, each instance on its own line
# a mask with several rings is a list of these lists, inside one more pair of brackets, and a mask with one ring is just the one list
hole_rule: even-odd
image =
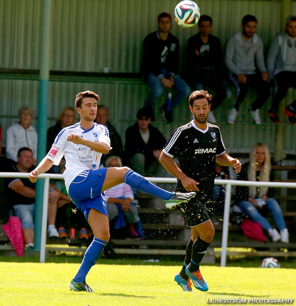
[[188,192],[199,191],[197,188],[199,183],[184,174],[183,171],[176,165],[174,160],[170,156],[166,155],[163,151],[161,152],[159,161],[165,167],[165,169],[168,170],[169,173],[174,175],[182,182],[183,187]]

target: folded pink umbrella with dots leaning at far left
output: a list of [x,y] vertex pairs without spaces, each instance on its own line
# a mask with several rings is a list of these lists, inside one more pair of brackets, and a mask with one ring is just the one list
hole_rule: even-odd
[[2,225],[7,237],[17,256],[23,256],[24,252],[24,239],[22,234],[22,225],[19,217],[10,216],[6,224]]

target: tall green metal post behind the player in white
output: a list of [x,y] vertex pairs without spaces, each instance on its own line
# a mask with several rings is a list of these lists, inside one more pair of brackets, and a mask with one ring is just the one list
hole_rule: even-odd
[[[39,104],[38,104],[38,152],[37,162],[40,162],[46,154],[46,122],[47,122],[47,98],[50,60],[50,15],[51,0],[43,0],[43,19],[41,29],[41,54],[39,77]],[[43,179],[37,180],[36,199],[34,213],[34,248],[40,250],[42,206],[43,206]]]

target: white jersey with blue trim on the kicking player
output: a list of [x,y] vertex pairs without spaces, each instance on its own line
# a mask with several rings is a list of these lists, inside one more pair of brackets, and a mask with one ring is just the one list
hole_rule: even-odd
[[58,166],[61,158],[65,155],[66,170],[64,178],[67,191],[74,178],[82,171],[98,169],[102,157],[102,153],[87,146],[67,141],[67,136],[70,134],[77,134],[90,141],[104,142],[110,147],[109,131],[105,125],[94,123],[90,129],[85,130],[79,123],[75,123],[58,133],[46,158],[52,160],[54,165]]

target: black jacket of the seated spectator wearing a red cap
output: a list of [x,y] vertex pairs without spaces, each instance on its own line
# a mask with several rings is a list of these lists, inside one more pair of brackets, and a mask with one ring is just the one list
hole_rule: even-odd
[[[165,52],[164,52],[165,51]],[[168,33],[168,39],[162,40],[158,32],[148,34],[143,42],[143,57],[141,74],[147,77],[150,73],[160,76],[161,68],[168,73],[178,74],[179,67],[179,40]]]

